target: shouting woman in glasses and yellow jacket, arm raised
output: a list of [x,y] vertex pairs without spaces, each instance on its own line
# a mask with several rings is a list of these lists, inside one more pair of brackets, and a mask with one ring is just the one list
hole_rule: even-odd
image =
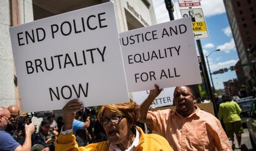
[[145,134],[135,126],[139,120],[140,108],[134,101],[129,103],[104,105],[98,113],[98,120],[103,125],[108,142],[89,144],[78,147],[72,134],[72,122],[75,112],[83,107],[77,99],[71,100],[63,108],[64,127],[56,141],[56,150],[173,150],[164,137],[157,134]]

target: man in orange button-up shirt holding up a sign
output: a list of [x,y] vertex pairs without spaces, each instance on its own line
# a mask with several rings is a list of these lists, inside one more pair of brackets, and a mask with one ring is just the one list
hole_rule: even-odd
[[165,137],[174,150],[232,150],[220,121],[194,105],[194,93],[189,86],[174,90],[176,110],[148,111],[160,92],[156,86],[140,105],[140,121]]

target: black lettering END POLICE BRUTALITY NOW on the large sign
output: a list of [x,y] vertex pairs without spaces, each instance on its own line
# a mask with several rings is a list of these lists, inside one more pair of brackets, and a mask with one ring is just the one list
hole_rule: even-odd
[[[69,20],[59,24],[51,24],[50,31],[46,28],[35,28],[29,31],[22,31],[17,33],[18,46],[23,47],[25,45],[41,43],[45,39],[57,39],[59,36],[69,36],[72,34],[84,33],[86,31],[97,30],[100,28],[106,28],[106,12],[102,12],[95,15],[88,15],[87,17],[81,17],[80,20]],[[105,62],[106,46],[92,47],[83,50],[74,51],[74,53],[58,54],[48,57],[42,57],[41,59],[33,59],[25,61],[25,67],[27,74],[35,74],[45,71],[52,71],[54,69],[64,69],[67,67],[78,67],[81,65],[88,65],[98,62]],[[82,56],[82,57],[79,57]],[[79,59],[80,58],[80,59]],[[100,58],[95,59],[95,58]],[[98,60],[98,62],[96,62]],[[71,86],[61,86],[61,88],[49,88],[49,95],[51,100],[70,99],[73,94],[76,97],[83,95],[88,96],[89,83],[72,84]],[[64,94],[64,91],[68,90],[70,93]],[[72,94],[73,92],[73,94]],[[62,98],[61,98],[62,97]]]

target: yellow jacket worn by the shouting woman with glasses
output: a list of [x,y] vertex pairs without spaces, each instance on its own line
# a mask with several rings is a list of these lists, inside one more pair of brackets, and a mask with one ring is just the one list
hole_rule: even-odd
[[[158,134],[145,134],[142,129],[136,127],[140,133],[139,145],[134,149],[134,151],[140,150],[162,150],[162,151],[172,151],[173,149],[169,145],[168,141],[164,137]],[[55,150],[64,151],[64,150],[84,150],[84,151],[96,151],[96,150],[108,150],[109,142],[98,142],[94,144],[89,144],[85,147],[78,147],[77,142],[75,141],[75,136],[70,133],[67,135],[60,134],[56,144]]]

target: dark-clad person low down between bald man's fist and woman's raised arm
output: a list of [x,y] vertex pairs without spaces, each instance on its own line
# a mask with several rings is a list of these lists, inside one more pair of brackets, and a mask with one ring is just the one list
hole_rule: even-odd
[[56,135],[50,131],[50,125],[51,123],[49,120],[41,121],[38,136],[40,137],[41,141],[49,145],[49,150],[54,150],[54,141],[56,140]]

